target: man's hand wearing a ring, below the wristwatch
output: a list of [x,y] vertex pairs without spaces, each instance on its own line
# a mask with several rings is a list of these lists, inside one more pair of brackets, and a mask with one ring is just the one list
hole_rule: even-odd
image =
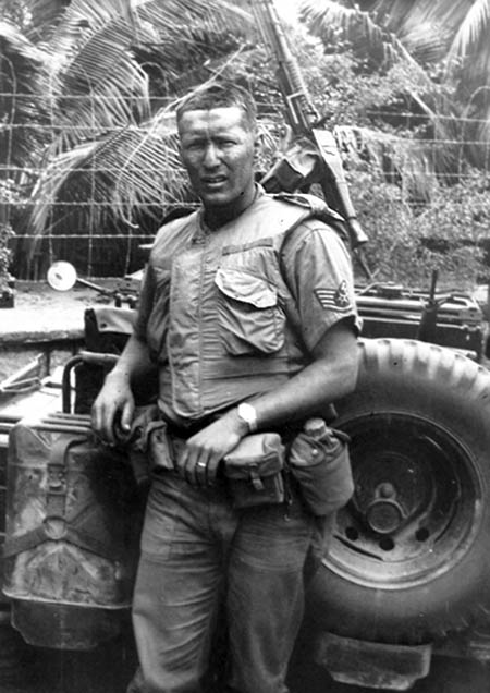
[[194,486],[212,486],[221,460],[247,433],[236,411],[228,412],[187,440],[176,461],[177,472]]

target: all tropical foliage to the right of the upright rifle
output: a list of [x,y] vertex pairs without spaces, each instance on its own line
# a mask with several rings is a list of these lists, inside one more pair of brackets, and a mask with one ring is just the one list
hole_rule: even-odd
[[[468,281],[483,279],[479,246],[490,219],[478,195],[489,186],[489,0],[304,0],[302,8],[329,70],[342,75],[339,88],[327,80],[333,94],[326,105],[336,98],[331,124],[356,171],[353,197],[372,227],[384,206],[382,185],[394,215],[371,231],[378,271],[396,248],[408,273],[444,265]],[[381,245],[380,226],[392,228]],[[403,263],[414,244],[417,255]]]

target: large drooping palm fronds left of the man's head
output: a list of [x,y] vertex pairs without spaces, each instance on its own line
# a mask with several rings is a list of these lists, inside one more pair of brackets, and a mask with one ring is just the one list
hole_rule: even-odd
[[[32,132],[40,142],[27,147],[29,159],[26,143],[7,131],[20,167],[29,160],[34,173],[28,214],[17,227],[61,236],[130,229],[133,238],[137,231],[148,238],[171,205],[189,200],[173,108],[184,92],[226,71],[226,61],[242,52],[248,14],[226,0],[29,4],[33,19],[24,34],[32,40],[16,36],[39,57],[29,65],[37,86],[25,93],[42,119],[35,114]],[[50,23],[35,25],[47,5],[56,10]],[[12,58],[14,72],[21,58]]]

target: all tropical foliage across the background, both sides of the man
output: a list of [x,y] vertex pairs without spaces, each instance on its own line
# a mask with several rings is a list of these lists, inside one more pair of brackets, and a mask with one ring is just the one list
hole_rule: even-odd
[[[474,203],[475,181],[486,190],[490,146],[489,8],[302,2],[305,25],[292,45],[342,148],[379,279],[424,281],[450,256],[460,273],[482,271],[476,235],[488,210]],[[174,206],[194,204],[173,111],[189,88],[220,74],[259,101],[266,170],[280,98],[248,10],[246,0],[8,0],[0,178],[24,200],[16,232],[140,241]],[[19,205],[0,209],[12,220]],[[445,243],[426,239],[434,229]]]

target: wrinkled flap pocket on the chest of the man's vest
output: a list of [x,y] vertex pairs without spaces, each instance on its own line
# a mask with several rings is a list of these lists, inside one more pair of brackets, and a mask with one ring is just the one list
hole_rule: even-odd
[[218,269],[218,316],[229,354],[272,354],[284,344],[285,316],[275,287],[243,269]]

